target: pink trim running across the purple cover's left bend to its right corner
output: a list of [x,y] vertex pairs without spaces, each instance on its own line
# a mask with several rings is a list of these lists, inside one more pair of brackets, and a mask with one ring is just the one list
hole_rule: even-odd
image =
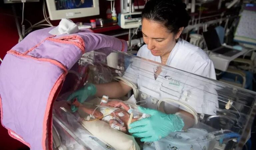
[[47,62],[50,62],[54,65],[57,65],[58,67],[63,69],[65,72],[68,72],[67,68],[63,64],[61,64],[60,62],[58,62],[56,60],[52,60],[52,59],[48,59],[48,58],[36,58],[36,57],[33,57],[33,56],[28,56],[28,55],[22,54],[20,52],[17,52],[15,50],[12,50],[12,49],[7,51],[7,53],[14,54],[14,55],[21,56],[21,57],[32,58],[32,59],[35,59],[35,60],[38,60],[38,61],[47,61]]

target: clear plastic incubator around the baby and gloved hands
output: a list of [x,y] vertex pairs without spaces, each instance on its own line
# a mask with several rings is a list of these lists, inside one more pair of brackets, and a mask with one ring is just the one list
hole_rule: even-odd
[[[109,65],[107,56],[111,53],[115,54],[116,63]],[[161,72],[156,77],[155,70],[159,68]],[[86,120],[81,112],[70,111],[72,102],[66,100],[75,90],[87,83],[117,81],[132,87],[130,93],[118,98],[127,106],[148,107],[164,113],[181,109],[193,115],[194,125],[159,141],[143,143],[128,130],[124,133],[112,128],[104,119]],[[129,99],[131,95],[133,100]],[[54,103],[54,148],[239,150],[250,137],[255,98],[255,92],[141,57],[109,49],[94,50],[85,53],[69,70]],[[94,110],[101,99],[89,97],[83,105]]]

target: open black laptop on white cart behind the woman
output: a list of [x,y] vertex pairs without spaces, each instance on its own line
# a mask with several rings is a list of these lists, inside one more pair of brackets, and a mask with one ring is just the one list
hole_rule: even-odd
[[208,50],[222,54],[224,56],[232,57],[235,54],[241,52],[240,50],[232,49],[221,45],[220,39],[215,29],[203,32],[203,36],[207,45]]

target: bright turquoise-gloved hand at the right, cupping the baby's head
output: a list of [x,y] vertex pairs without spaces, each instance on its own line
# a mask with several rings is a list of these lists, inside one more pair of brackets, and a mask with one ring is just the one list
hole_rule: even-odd
[[138,107],[138,110],[151,115],[130,124],[129,132],[134,137],[140,137],[142,142],[157,141],[171,132],[180,131],[184,126],[182,118],[175,114],[165,114],[143,107]]

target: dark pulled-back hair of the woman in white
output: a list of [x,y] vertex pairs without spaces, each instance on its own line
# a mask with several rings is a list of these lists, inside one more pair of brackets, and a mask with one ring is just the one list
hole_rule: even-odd
[[186,4],[181,0],[150,0],[142,11],[142,19],[163,24],[170,32],[177,34],[179,28],[187,27],[190,16]]

